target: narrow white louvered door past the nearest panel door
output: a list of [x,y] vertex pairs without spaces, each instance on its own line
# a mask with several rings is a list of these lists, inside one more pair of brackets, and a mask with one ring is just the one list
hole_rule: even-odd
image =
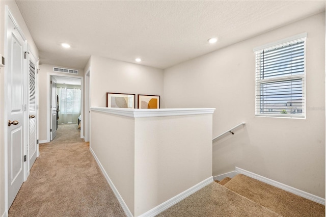
[[28,164],[29,169],[32,168],[38,152],[38,144],[37,144],[37,90],[36,90],[36,69],[37,61],[36,58],[32,55],[30,51],[29,55],[29,100],[28,100],[28,108],[29,108],[29,145],[28,145]]

